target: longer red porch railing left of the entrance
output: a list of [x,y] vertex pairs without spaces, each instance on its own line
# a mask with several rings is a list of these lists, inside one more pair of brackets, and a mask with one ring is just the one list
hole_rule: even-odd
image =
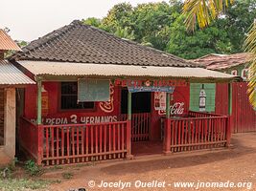
[[[26,141],[23,141],[22,146],[27,148],[38,164],[122,159],[128,155],[130,147],[128,121],[86,125],[25,125],[22,128],[28,133],[33,132],[35,136],[33,139],[23,137]],[[34,145],[33,148],[30,143]]]

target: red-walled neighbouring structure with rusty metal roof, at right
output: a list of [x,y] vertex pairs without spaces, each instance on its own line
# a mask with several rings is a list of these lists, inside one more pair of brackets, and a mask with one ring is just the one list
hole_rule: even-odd
[[[256,108],[249,103],[247,91],[249,57],[248,53],[215,54],[211,53],[193,61],[206,66],[209,70],[225,74],[239,75],[243,82],[232,84],[231,130],[233,133],[256,131]],[[201,86],[206,92],[206,111],[217,114],[228,114],[227,84],[191,84],[191,109],[198,110],[198,95]]]

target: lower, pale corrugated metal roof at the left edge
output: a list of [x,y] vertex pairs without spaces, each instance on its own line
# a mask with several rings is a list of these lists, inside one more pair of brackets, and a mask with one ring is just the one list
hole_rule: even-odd
[[7,60],[0,60],[0,85],[35,84],[30,77],[23,74]]

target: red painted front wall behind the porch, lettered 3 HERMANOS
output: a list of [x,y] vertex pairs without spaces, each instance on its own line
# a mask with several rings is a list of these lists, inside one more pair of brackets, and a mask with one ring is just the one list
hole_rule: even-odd
[[[99,102],[96,102],[96,108],[93,111],[81,111],[81,110],[59,110],[59,83],[58,82],[43,82],[44,89],[47,91],[49,96],[49,109],[48,115],[43,118],[58,118],[66,117],[68,123],[72,115],[76,115],[78,123],[81,117],[102,117],[102,116],[117,116],[121,115],[121,87],[114,88],[114,110],[111,113],[105,113],[99,107]],[[187,114],[189,110],[190,100],[190,85],[186,87],[175,87],[174,101],[184,102],[184,113]],[[36,118],[36,86],[27,86],[25,89],[25,101],[24,101],[24,117]],[[164,115],[158,115],[158,111],[154,109],[154,95],[151,93],[151,139],[160,139],[160,118]]]

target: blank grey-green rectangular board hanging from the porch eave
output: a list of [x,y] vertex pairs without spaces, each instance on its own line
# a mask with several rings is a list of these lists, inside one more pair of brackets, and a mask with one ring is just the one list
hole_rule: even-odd
[[109,80],[78,79],[78,102],[109,100]]

